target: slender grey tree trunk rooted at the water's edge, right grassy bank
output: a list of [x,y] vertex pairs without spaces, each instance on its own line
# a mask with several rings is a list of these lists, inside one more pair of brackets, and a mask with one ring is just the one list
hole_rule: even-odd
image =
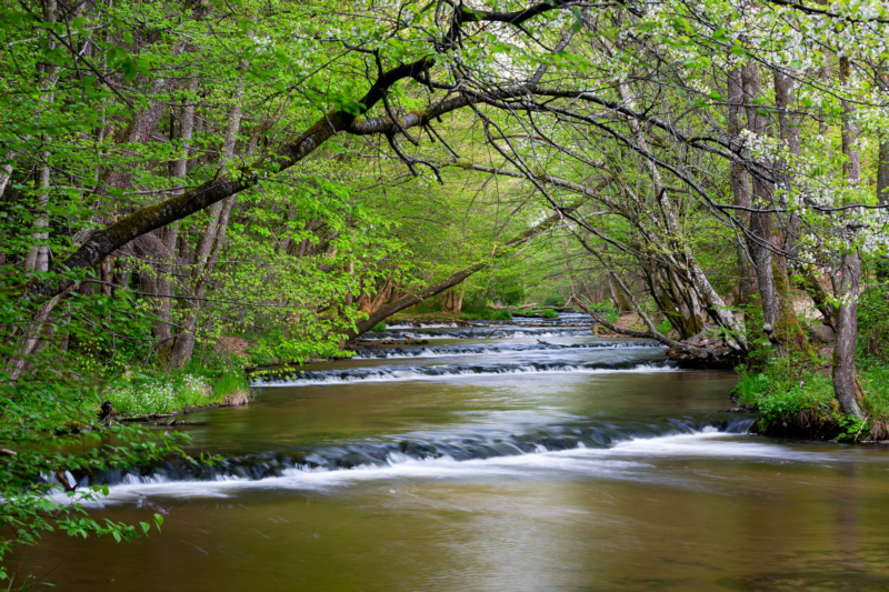
[[[849,78],[849,59],[840,58],[840,81],[846,86]],[[846,155],[843,172],[850,184],[861,179],[861,157],[855,148],[858,128],[852,121],[852,106],[843,102],[842,153]],[[843,205],[848,205],[843,203]],[[846,210],[846,217],[853,210]],[[843,229],[847,244],[840,253],[840,290],[837,311],[837,344],[833,349],[833,394],[847,415],[865,419],[865,393],[858,381],[855,365],[855,348],[858,341],[858,294],[861,283],[861,259],[855,241],[855,230]]]

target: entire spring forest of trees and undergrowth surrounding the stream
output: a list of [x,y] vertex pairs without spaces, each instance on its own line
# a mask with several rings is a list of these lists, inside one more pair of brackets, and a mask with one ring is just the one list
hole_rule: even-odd
[[406,310],[581,310],[737,369],[772,423],[889,437],[885,2],[2,0],[0,22],[0,556],[160,528],[44,494],[203,462],[111,405],[231,402],[246,367],[348,358]]

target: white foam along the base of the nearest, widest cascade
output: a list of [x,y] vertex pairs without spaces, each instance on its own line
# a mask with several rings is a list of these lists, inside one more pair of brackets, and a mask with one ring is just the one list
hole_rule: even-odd
[[[537,480],[570,474],[657,480],[659,470],[652,460],[663,458],[687,461],[731,458],[741,461],[818,464],[836,461],[830,454],[793,451],[752,440],[738,441],[738,438],[737,433],[705,428],[692,433],[632,438],[610,448],[589,448],[581,443],[572,449],[551,451],[538,445],[533,452],[488,459],[456,460],[448,455],[417,459],[390,453],[381,464],[362,464],[340,470],[300,465],[286,469],[280,475],[259,480],[228,476],[212,481],[171,481],[162,475],[150,476],[121,482],[110,488],[108,498],[84,503],[103,505],[153,496],[230,498],[247,490],[330,493],[359,483],[397,480]],[[71,501],[63,494],[53,496],[53,500],[59,503]]]

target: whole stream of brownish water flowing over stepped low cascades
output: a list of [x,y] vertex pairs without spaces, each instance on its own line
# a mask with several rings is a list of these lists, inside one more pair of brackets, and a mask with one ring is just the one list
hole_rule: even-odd
[[[190,415],[207,469],[107,474],[129,544],[49,536],[61,590],[578,591],[889,588],[881,445],[748,435],[731,373],[563,315],[398,327]],[[572,327],[581,324],[581,327]]]

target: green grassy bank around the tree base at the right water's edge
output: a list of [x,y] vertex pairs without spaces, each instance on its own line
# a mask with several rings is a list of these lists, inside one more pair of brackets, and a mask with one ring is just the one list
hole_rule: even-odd
[[733,397],[760,415],[755,430],[840,442],[888,439],[889,364],[870,360],[859,365],[868,417],[857,421],[840,412],[830,363],[821,362],[772,360],[759,370],[740,372]]

